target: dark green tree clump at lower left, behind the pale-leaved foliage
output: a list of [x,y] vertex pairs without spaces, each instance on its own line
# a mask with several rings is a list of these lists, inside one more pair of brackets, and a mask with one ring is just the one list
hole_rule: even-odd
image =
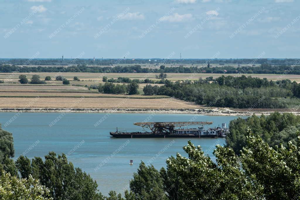
[[[74,168],[67,161],[65,154],[56,155],[49,152],[45,161],[41,157],[35,157],[28,165],[28,159],[19,157],[17,161],[18,170],[22,178],[31,174],[33,178],[39,179],[41,184],[50,190],[54,199],[100,199],[98,184],[90,175],[82,172],[80,168]],[[30,175],[29,175],[30,177]]]

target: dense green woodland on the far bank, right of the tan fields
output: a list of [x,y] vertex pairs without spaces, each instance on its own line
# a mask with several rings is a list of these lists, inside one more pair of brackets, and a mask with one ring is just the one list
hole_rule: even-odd
[[167,95],[210,107],[292,108],[300,103],[300,85],[289,79],[220,76],[196,81],[165,80],[159,88],[147,85],[143,90],[145,95]]

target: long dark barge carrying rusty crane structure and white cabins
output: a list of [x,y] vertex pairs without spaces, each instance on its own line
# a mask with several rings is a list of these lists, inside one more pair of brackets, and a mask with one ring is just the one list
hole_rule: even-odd
[[[204,125],[212,122],[146,122],[134,123],[134,125],[143,128],[149,128],[151,132],[110,132],[110,135],[116,138],[169,138],[169,137],[194,137],[194,138],[217,138],[226,137],[229,129],[223,123],[222,127],[204,129]],[[181,128],[182,126],[200,125],[198,128]],[[175,127],[180,127],[175,129]]]

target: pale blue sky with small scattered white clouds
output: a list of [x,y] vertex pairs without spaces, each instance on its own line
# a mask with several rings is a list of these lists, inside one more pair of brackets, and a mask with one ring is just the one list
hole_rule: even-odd
[[0,58],[300,58],[298,0],[0,0]]

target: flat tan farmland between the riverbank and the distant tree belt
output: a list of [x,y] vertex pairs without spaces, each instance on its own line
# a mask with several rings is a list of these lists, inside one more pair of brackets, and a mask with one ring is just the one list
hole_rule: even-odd
[[[41,80],[51,76],[52,80],[45,85],[19,84],[19,75],[24,74],[30,80],[32,75],[38,74]],[[62,85],[62,81],[56,81],[55,76],[61,75],[70,80],[70,85]],[[90,85],[103,84],[102,77],[110,78],[128,77],[131,79],[156,79],[157,73],[1,73],[0,103],[1,108],[122,108],[122,109],[197,109],[202,108],[193,103],[176,100],[168,96],[155,95],[144,96],[143,87],[140,84],[139,95],[126,94],[102,94],[98,90],[88,89]],[[241,76],[241,74],[226,74],[226,76]],[[278,74],[245,74],[269,80],[291,79],[300,82],[298,75]],[[80,81],[73,80],[77,76]],[[197,80],[212,76],[217,78],[220,74],[207,73],[167,73],[167,79],[171,81]],[[117,83],[114,83],[117,84]],[[161,86],[163,84],[152,84]],[[38,100],[36,100],[38,97]],[[83,98],[82,101],[80,99]],[[36,100],[36,101],[35,101]],[[124,102],[125,100],[125,102]],[[168,103],[165,103],[168,102]]]

